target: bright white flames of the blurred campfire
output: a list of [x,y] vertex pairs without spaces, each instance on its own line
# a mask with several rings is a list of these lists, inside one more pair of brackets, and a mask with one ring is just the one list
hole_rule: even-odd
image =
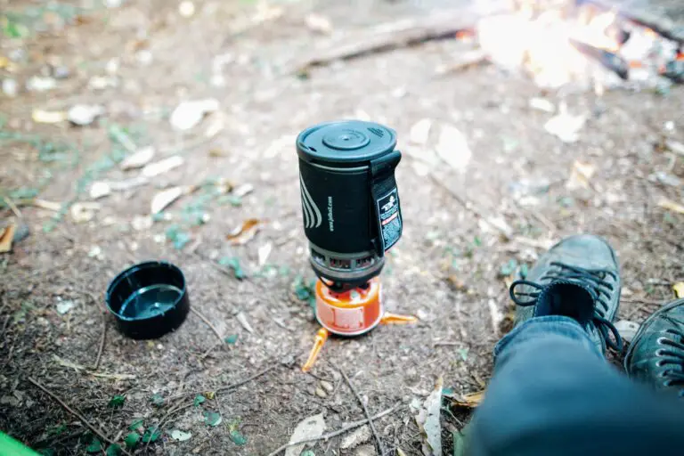
[[[571,83],[619,84],[618,69],[610,68],[611,56],[632,69],[645,68],[643,58],[658,39],[653,30],[641,28],[639,39],[632,40],[641,47],[632,45],[630,56],[623,56],[623,44],[629,43],[631,35],[623,29],[617,12],[590,5],[568,8],[571,4],[556,2],[544,9],[540,2],[517,0],[514,12],[480,20],[479,44],[498,66],[524,72],[547,89]],[[582,45],[582,52],[574,43]]]

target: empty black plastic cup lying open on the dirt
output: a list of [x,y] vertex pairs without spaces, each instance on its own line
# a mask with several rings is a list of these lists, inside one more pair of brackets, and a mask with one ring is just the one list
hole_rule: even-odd
[[107,288],[107,307],[129,338],[159,338],[177,329],[190,311],[181,270],[148,261],[119,273]]

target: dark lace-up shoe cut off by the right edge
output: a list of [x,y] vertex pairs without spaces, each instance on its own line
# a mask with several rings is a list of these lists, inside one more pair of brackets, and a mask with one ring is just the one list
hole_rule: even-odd
[[624,357],[631,379],[684,397],[684,299],[643,322]]

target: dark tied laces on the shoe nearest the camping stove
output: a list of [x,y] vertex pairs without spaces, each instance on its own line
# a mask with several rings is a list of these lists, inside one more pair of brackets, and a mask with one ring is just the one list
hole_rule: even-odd
[[[594,325],[599,330],[601,337],[606,341],[606,345],[617,352],[621,352],[623,349],[623,338],[620,337],[620,333],[615,329],[613,323],[606,318],[607,311],[610,308],[608,300],[613,292],[613,285],[606,281],[606,277],[611,276],[614,280],[617,280],[617,274],[614,271],[607,269],[584,269],[574,265],[566,265],[565,263],[558,261],[551,262],[550,266],[549,271],[542,275],[542,277],[539,278],[539,281],[562,279],[565,281],[574,281],[587,287],[595,303],[594,317],[592,319]],[[526,285],[536,291],[531,293],[516,291],[516,288],[521,285]],[[537,304],[537,297],[539,297],[541,290],[544,289],[546,285],[548,285],[548,282],[545,285],[541,285],[540,283],[533,281],[514,281],[509,289],[510,298],[517,305],[535,305]],[[518,296],[529,297],[530,299],[523,300]],[[615,338],[615,342],[610,338],[611,333],[613,334],[613,338]]]

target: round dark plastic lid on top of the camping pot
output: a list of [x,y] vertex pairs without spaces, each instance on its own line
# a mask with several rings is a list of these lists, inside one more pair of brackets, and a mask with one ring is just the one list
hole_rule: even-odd
[[297,155],[314,163],[366,165],[395,150],[396,133],[387,126],[361,120],[327,122],[297,136]]

